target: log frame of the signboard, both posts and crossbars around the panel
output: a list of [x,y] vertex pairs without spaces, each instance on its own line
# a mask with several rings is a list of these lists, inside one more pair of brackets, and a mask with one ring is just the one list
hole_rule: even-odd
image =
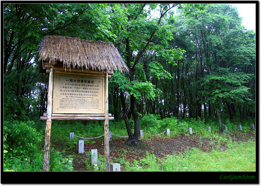
[[[54,65],[45,65],[46,73],[49,73],[49,87],[48,87],[48,100],[47,100],[47,113],[46,116],[40,116],[40,120],[46,120],[45,126],[45,148],[44,148],[44,161],[43,171],[49,171],[49,158],[50,158],[50,136],[51,136],[51,123],[52,120],[103,120],[104,121],[104,157],[105,157],[105,171],[110,171],[110,150],[109,150],[109,120],[114,120],[114,117],[109,116],[108,112],[108,78],[111,77],[109,72],[94,71],[94,70],[76,70],[71,69],[66,71],[64,68],[56,67]],[[65,71],[62,71],[65,70]],[[83,75],[102,77],[104,79],[103,87],[103,114],[53,114],[53,86],[54,74],[69,74],[69,76]],[[110,72],[113,74],[113,72]],[[56,116],[55,116],[56,115]],[[58,116],[57,116],[58,115]]]

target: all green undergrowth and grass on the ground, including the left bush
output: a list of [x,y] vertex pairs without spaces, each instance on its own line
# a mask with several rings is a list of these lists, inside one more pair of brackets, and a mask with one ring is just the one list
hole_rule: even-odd
[[[130,121],[131,123],[131,121]],[[251,130],[250,123],[242,124],[243,132]],[[234,129],[236,123],[226,120],[224,125]],[[212,132],[206,131],[210,126]],[[114,161],[124,166],[126,171],[255,171],[255,139],[249,138],[248,142],[233,142],[228,133],[220,134],[216,121],[205,123],[204,120],[190,119],[177,120],[176,118],[160,119],[159,116],[146,115],[140,120],[140,130],[148,134],[159,134],[169,128],[171,135],[179,135],[188,127],[193,129],[201,138],[207,138],[209,143],[217,147],[211,152],[203,152],[199,148],[185,150],[184,154],[168,155],[156,159],[152,153],[140,161],[130,163],[121,158]],[[238,130],[238,129],[237,129]],[[111,121],[110,131],[116,135],[127,135],[124,121]],[[231,130],[233,132],[233,130]],[[255,130],[251,130],[255,132]],[[51,131],[50,171],[73,171],[73,156],[66,156],[65,150],[75,145],[69,141],[69,132],[85,138],[92,138],[104,134],[103,124],[98,121],[53,121]],[[189,134],[188,134],[189,135]],[[45,128],[34,121],[5,121],[4,122],[4,170],[5,171],[42,171],[44,154]],[[116,137],[117,138],[117,137]],[[118,137],[119,138],[119,137]],[[146,136],[145,136],[146,138]],[[63,151],[55,150],[52,143],[64,141]],[[90,143],[88,139],[84,139]],[[226,143],[226,150],[220,150],[220,144]],[[199,147],[201,141],[199,140]],[[253,158],[254,157],[254,158]],[[99,156],[100,162],[104,157]],[[205,161],[208,160],[208,161]],[[87,161],[87,160],[86,160]],[[89,166],[91,171],[104,171],[100,165]]]

